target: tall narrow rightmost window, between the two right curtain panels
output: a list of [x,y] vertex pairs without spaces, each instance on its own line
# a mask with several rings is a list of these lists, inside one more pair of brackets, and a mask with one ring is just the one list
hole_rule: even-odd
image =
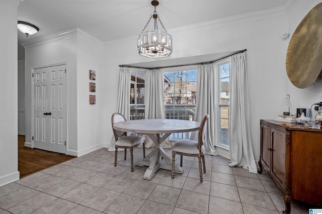
[[230,110],[230,60],[218,64],[219,81],[219,145],[229,148],[229,110]]

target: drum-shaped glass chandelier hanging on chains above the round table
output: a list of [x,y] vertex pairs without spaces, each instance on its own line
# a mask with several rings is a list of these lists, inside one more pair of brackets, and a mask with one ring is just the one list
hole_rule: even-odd
[[[152,1],[154,6],[153,15],[147,21],[145,27],[139,34],[137,49],[139,54],[148,58],[162,58],[167,57],[172,53],[172,36],[168,34],[166,28],[163,26],[155,7],[158,6],[158,1]],[[146,30],[151,18],[154,19],[154,30]],[[157,20],[163,27],[163,30],[157,29]]]

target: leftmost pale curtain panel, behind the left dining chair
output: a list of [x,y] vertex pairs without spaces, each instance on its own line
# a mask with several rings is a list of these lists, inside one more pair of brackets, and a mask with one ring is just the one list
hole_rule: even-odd
[[[121,113],[126,120],[130,120],[130,87],[131,87],[130,79],[131,79],[131,69],[129,67],[120,67],[119,87],[118,87],[119,99],[117,103],[117,112]],[[107,150],[115,151],[114,136]]]

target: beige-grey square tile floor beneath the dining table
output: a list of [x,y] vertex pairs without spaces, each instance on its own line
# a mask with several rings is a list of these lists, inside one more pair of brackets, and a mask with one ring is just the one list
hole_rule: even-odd
[[[284,209],[283,195],[267,173],[231,168],[220,156],[205,156],[207,172],[200,183],[197,158],[184,157],[184,173],[174,179],[170,171],[158,170],[147,181],[142,179],[146,167],[131,172],[130,160],[124,161],[123,151],[118,154],[116,167],[114,152],[102,148],[0,187],[0,214],[279,214]],[[142,149],[136,148],[134,159],[141,157]],[[308,213],[308,208],[292,202],[292,213]]]

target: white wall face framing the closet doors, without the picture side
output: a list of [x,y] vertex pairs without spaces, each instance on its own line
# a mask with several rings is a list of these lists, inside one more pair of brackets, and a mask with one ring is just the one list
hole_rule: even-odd
[[71,30],[24,43],[26,144],[32,143],[32,70],[67,62],[67,154],[77,153],[77,31]]

